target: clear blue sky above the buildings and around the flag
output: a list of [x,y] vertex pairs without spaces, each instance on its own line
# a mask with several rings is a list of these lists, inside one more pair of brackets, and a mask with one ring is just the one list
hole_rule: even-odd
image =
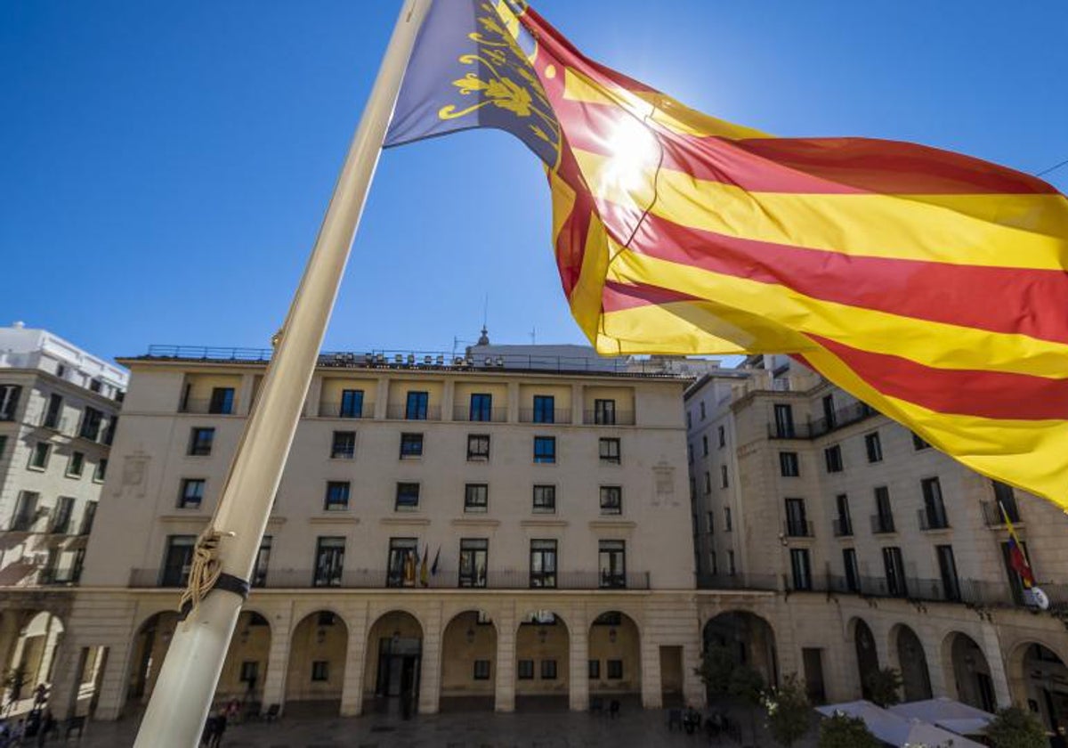
[[[107,357],[266,345],[398,6],[0,3],[0,324]],[[602,62],[779,135],[1068,158],[1063,0],[535,6]],[[1068,168],[1047,178],[1068,191]],[[582,342],[549,225],[541,169],[506,135],[387,152],[326,347],[449,350],[487,293],[494,342]]]

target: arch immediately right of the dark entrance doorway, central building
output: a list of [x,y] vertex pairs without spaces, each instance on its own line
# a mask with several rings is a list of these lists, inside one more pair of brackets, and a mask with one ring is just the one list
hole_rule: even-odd
[[484,610],[453,615],[441,634],[442,712],[492,711],[497,625]]

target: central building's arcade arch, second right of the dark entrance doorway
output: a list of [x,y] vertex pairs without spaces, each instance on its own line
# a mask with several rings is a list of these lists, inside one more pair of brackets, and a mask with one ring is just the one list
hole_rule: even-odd
[[554,610],[530,610],[516,630],[516,708],[567,708],[570,629]]

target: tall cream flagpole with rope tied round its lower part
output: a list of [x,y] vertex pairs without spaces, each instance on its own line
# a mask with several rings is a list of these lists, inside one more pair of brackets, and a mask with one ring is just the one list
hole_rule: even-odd
[[195,748],[200,743],[400,81],[430,2],[406,0],[400,10],[219,505],[198,542],[187,592],[193,594],[191,609],[171,639],[137,748]]

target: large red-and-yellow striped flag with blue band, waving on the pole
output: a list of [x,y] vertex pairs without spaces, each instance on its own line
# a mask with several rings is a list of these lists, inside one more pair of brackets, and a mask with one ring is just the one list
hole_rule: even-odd
[[387,145],[473,127],[546,166],[602,354],[787,353],[969,467],[1068,507],[1068,201],[867,138],[776,138],[579,52],[517,0],[439,0]]

